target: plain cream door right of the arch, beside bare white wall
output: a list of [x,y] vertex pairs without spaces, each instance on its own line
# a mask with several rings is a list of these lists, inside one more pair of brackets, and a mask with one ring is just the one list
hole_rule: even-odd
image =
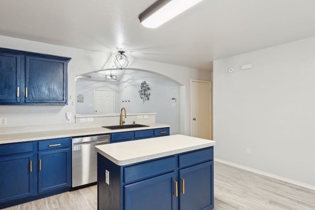
[[191,81],[191,136],[211,139],[211,82]]

